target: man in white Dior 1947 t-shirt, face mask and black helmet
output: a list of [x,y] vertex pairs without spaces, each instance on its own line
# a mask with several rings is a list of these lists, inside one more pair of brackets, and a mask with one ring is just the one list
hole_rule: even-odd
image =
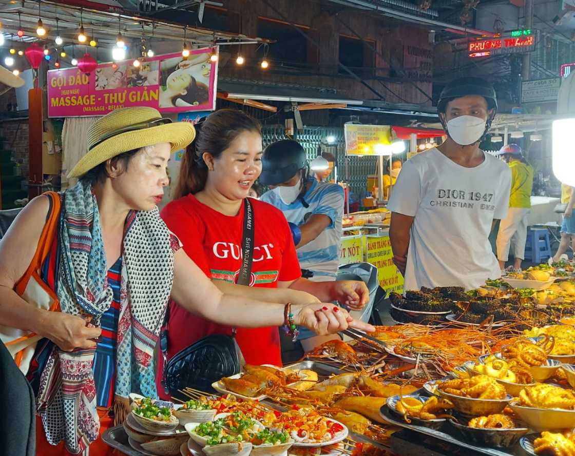
[[511,172],[479,148],[496,111],[486,80],[454,80],[438,103],[447,140],[403,165],[388,209],[393,261],[406,291],[469,290],[501,277],[489,234],[507,218]]

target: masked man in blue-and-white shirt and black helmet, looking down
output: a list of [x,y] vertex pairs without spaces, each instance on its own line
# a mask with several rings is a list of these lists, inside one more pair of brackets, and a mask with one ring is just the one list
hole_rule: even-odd
[[[300,267],[310,280],[336,280],[341,249],[344,190],[309,176],[304,148],[292,140],[274,142],[262,155],[259,181],[272,190],[260,198],[279,208],[289,222]],[[337,337],[337,336],[335,336]],[[298,340],[305,351],[334,336],[320,337],[305,328]]]

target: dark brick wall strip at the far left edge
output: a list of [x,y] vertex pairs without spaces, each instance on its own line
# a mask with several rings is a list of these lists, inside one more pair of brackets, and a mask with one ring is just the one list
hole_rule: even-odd
[[16,110],[16,91],[10,89],[0,95],[0,136],[6,138],[4,148],[12,150],[17,163],[21,165],[22,176],[28,179],[28,118],[10,119]]

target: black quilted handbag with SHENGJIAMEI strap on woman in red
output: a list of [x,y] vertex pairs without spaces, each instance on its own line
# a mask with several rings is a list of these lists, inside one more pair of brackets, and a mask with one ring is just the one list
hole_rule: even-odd
[[[244,199],[244,227],[242,260],[237,284],[250,285],[254,252],[254,213],[249,198]],[[168,350],[167,322],[170,318],[166,309],[164,327],[160,333],[160,350],[164,360],[162,386],[166,395],[188,400],[179,390],[194,388],[212,392],[212,384],[222,377],[240,373],[246,365],[240,347],[237,345],[233,328],[232,335],[214,334],[186,347],[166,362]]]

